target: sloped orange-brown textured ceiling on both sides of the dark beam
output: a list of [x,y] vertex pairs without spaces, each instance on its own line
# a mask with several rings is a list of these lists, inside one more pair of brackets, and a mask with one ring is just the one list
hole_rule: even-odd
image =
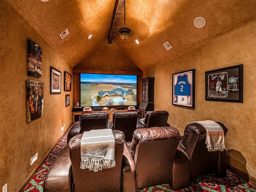
[[[74,67],[108,39],[116,0],[6,2]],[[194,26],[198,16],[206,20],[203,28]],[[126,27],[132,33],[124,41],[117,31],[114,42],[140,70],[146,70],[251,19],[256,19],[256,0],[126,0]],[[123,26],[124,12],[117,30]],[[61,39],[59,34],[67,28],[70,34]],[[164,48],[166,41],[172,49]]]

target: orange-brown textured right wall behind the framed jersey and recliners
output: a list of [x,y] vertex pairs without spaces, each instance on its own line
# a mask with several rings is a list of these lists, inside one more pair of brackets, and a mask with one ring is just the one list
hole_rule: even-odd
[[[155,110],[167,110],[171,126],[183,134],[185,126],[192,121],[224,123],[228,128],[225,139],[228,163],[253,178],[256,178],[255,31],[254,19],[188,54],[144,72],[144,76],[155,77]],[[206,101],[205,72],[238,64],[244,64],[244,103]],[[174,107],[170,97],[172,74],[193,68],[196,69],[196,108]]]

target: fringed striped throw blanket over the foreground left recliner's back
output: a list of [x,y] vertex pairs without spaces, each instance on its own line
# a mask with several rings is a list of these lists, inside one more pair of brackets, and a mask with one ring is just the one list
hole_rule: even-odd
[[112,129],[84,132],[81,140],[80,168],[98,172],[115,166],[115,139]]

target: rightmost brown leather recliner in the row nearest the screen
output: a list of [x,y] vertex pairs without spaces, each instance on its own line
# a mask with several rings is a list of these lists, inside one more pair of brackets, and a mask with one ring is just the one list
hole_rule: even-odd
[[137,121],[137,128],[164,127],[170,126],[167,123],[169,113],[167,111],[148,111],[145,115],[144,124]]

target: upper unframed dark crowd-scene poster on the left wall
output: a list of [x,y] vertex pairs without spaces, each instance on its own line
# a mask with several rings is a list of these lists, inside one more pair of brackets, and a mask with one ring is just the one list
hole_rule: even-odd
[[42,47],[28,39],[28,76],[42,77]]

